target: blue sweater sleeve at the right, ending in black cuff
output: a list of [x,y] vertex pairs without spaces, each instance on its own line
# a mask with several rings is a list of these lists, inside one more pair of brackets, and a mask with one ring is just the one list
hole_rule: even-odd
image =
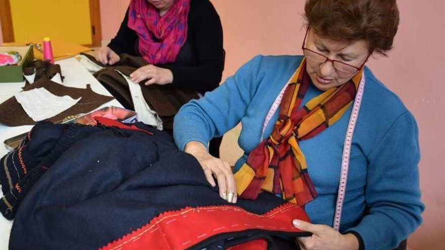
[[346,231],[360,234],[366,250],[395,248],[422,223],[418,128],[400,115],[369,155],[365,199],[369,212]]

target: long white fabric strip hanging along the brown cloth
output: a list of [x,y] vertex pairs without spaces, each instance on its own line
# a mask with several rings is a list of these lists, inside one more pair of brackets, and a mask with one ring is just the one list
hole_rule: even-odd
[[162,120],[161,118],[159,118],[158,114],[150,108],[147,102],[145,102],[144,95],[142,94],[141,85],[133,82],[128,76],[122,74],[121,72],[119,73],[128,83],[133,106],[135,107],[136,113],[138,113],[138,120],[145,124],[153,125],[157,129],[162,130]]

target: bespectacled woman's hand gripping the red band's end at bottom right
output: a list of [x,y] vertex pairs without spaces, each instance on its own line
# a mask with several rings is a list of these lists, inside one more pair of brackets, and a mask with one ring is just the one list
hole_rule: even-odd
[[359,240],[351,233],[341,234],[330,226],[311,224],[300,220],[293,220],[292,223],[296,228],[312,233],[310,237],[297,238],[302,250],[359,249]]

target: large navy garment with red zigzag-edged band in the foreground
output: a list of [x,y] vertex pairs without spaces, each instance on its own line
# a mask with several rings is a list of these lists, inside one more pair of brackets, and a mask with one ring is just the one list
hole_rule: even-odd
[[99,130],[63,133],[16,212],[11,249],[298,249],[293,238],[310,235],[292,225],[304,211],[273,194],[227,203],[165,132],[78,126]]

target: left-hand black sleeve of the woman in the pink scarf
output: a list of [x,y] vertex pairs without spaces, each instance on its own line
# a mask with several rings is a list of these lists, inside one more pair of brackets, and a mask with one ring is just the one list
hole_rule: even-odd
[[138,34],[130,28],[128,28],[128,9],[125,13],[125,17],[120,24],[119,31],[117,31],[116,36],[111,39],[110,43],[107,45],[117,55],[126,53],[132,56],[136,56],[135,44],[138,38]]

